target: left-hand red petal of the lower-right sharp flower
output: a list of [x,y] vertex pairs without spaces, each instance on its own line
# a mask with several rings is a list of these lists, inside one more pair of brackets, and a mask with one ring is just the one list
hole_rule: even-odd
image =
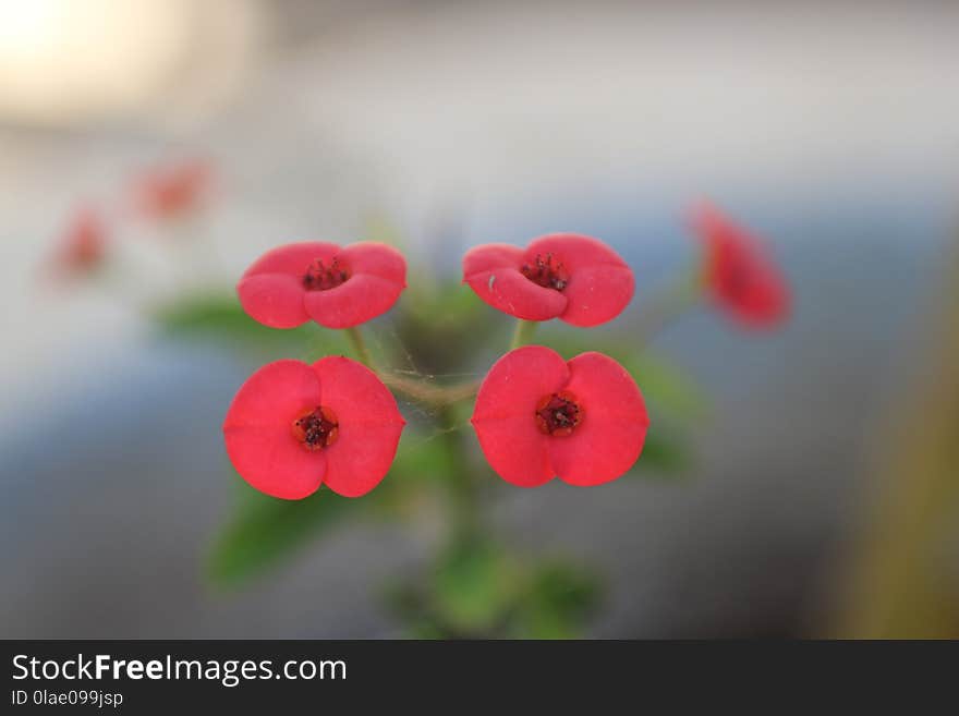
[[484,378],[471,422],[486,460],[507,482],[536,487],[554,477],[549,437],[536,426],[536,404],[568,379],[566,361],[541,345],[507,353]]

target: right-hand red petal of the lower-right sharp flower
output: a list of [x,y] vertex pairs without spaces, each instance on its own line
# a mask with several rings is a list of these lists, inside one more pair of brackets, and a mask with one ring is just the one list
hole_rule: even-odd
[[583,353],[569,362],[566,390],[583,409],[572,435],[549,441],[557,475],[571,485],[600,485],[626,473],[640,457],[650,418],[643,396],[630,374],[602,353]]

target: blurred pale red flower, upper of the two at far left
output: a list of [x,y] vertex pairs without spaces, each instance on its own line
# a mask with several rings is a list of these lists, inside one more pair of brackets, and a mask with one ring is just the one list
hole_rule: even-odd
[[136,207],[150,219],[175,219],[209,198],[213,169],[202,159],[153,169],[134,184]]

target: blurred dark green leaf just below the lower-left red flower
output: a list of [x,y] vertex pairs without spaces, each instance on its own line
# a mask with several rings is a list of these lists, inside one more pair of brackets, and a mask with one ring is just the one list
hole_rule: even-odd
[[326,488],[306,499],[281,500],[244,485],[234,514],[214,543],[207,573],[218,586],[235,586],[279,566],[357,506]]

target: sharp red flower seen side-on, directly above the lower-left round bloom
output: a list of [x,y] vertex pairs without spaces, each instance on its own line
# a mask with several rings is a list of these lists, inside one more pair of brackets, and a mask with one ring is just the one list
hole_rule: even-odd
[[391,246],[360,242],[287,244],[260,256],[236,284],[240,303],[274,328],[311,318],[349,328],[389,311],[406,288],[406,262]]

